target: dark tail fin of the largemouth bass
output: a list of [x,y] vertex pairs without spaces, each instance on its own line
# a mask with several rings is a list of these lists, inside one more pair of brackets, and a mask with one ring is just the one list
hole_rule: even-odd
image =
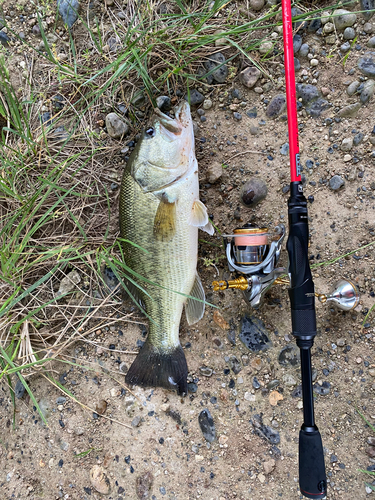
[[159,350],[146,340],[125,376],[129,385],[164,387],[187,394],[187,363],[182,347]]

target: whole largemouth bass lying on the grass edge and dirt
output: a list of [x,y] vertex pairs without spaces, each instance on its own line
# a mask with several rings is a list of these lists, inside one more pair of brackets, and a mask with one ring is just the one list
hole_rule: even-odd
[[[150,318],[147,340],[126,382],[187,393],[187,363],[179,341],[182,309],[188,323],[204,313],[197,275],[198,228],[213,234],[199,201],[193,123],[186,102],[175,118],[156,109],[124,171],[120,193],[121,237],[126,264],[150,283],[128,288]],[[133,244],[132,244],[133,243]],[[186,295],[195,297],[187,298]]]

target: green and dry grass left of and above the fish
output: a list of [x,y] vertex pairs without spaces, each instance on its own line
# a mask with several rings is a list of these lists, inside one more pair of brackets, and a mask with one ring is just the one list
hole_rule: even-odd
[[[176,0],[164,14],[160,4],[129,0],[125,19],[112,17],[106,31],[100,17],[82,12],[81,24],[66,33],[64,43],[61,35],[49,43],[44,21],[52,3],[40,1],[37,23],[44,49],[23,42],[35,67],[26,66],[21,88],[9,71],[12,51],[0,47],[0,120],[5,123],[0,134],[0,378],[14,404],[17,378],[35,399],[28,380],[38,370],[49,373],[92,324],[105,326],[96,319],[99,310],[127,320],[120,298],[103,278],[105,266],[121,287],[140,279],[122,259],[117,191],[111,189],[120,182],[124,142],[105,134],[103,117],[124,103],[132,130],[126,143],[143,127],[158,95],[209,89],[205,78],[212,71],[198,77],[198,70],[218,50],[229,65],[229,81],[243,63],[267,76],[268,60],[257,48],[270,28],[281,24],[278,7],[249,17],[227,0]],[[306,20],[329,8],[295,5]],[[48,32],[56,27],[61,24]],[[10,26],[8,34],[18,37]],[[114,52],[108,50],[109,37],[118,38]],[[227,46],[216,47],[218,39]],[[277,44],[282,47],[281,37]],[[281,55],[270,57],[280,62]],[[64,99],[62,109],[53,105],[56,94]],[[142,106],[136,102],[140,96]],[[52,124],[41,123],[44,110]],[[56,138],[56,127],[65,128],[64,137]],[[58,297],[59,283],[72,270],[81,282]]]

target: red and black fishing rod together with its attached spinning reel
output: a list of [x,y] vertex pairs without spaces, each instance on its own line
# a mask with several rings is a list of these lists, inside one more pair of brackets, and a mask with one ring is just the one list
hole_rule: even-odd
[[[359,303],[359,292],[351,281],[344,279],[339,280],[328,294],[315,292],[308,259],[307,202],[303,195],[299,156],[290,0],[282,0],[282,14],[291,176],[288,270],[276,267],[285,238],[285,227],[280,224],[270,231],[268,228],[245,224],[236,228],[233,234],[224,235],[228,268],[236,278],[214,281],[212,285],[215,291],[229,288],[242,290],[245,300],[253,308],[260,306],[264,295],[274,284],[290,285],[292,333],[300,349],[303,400],[303,424],[299,434],[299,485],[305,497],[320,499],[327,494],[327,478],[322,439],[314,416],[311,348],[316,336],[315,297],[321,303],[332,303],[338,309],[350,311]],[[286,273],[289,279],[285,277]]]

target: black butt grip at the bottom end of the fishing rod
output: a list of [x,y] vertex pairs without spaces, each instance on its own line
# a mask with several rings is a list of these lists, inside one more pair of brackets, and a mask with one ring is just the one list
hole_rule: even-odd
[[316,426],[302,426],[299,433],[299,486],[307,498],[327,495],[323,444]]

